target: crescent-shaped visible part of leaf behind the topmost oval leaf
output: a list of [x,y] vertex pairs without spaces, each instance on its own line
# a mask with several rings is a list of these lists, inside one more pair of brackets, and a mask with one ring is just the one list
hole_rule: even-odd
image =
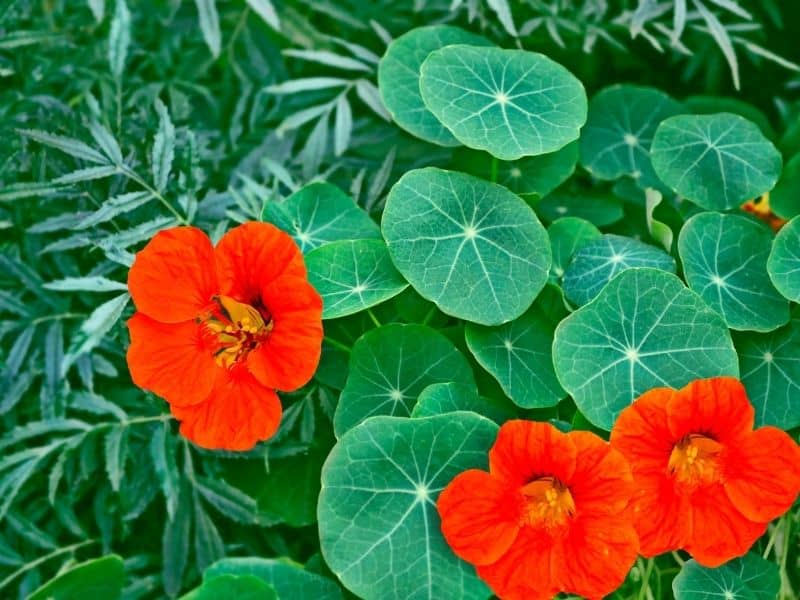
[[392,41],[378,64],[378,88],[395,122],[410,134],[440,146],[459,146],[460,142],[422,101],[419,69],[431,52],[450,44],[488,46],[490,42],[450,25],[418,27]]

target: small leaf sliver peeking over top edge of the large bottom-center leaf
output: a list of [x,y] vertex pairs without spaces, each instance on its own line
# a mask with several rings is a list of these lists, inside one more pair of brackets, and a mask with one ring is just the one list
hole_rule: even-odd
[[411,416],[416,419],[470,411],[502,424],[514,417],[514,411],[509,408],[510,405],[479,396],[474,387],[462,383],[434,383],[420,392]]

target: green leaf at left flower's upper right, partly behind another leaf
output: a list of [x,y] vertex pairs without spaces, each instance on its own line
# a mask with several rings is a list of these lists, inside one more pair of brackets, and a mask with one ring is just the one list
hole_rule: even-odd
[[304,253],[336,240],[381,237],[375,221],[330,183],[310,183],[283,202],[269,202],[262,217],[291,235]]

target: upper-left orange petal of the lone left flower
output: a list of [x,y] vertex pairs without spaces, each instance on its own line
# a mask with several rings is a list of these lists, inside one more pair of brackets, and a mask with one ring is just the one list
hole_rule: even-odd
[[159,231],[128,273],[136,308],[163,323],[194,319],[218,293],[214,249],[196,227]]

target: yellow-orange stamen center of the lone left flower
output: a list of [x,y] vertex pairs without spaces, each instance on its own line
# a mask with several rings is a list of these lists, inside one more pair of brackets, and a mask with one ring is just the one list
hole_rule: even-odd
[[202,319],[206,330],[216,336],[214,357],[221,367],[230,368],[247,356],[272,331],[272,319],[228,296],[214,296],[214,308]]

